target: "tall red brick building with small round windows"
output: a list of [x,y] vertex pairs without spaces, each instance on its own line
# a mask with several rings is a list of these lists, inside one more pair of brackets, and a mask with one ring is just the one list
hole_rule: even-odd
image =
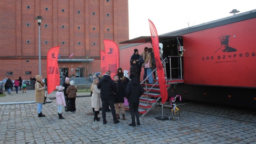
[[103,39],[119,47],[119,42],[129,39],[127,0],[1,1],[0,81],[5,76],[29,79],[39,74],[38,15],[44,18],[40,30],[43,78],[47,52],[54,46],[60,46],[60,74],[85,77],[101,71]]

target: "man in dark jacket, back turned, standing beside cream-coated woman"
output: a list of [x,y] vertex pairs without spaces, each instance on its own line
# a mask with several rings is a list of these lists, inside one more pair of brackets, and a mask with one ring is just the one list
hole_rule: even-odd
[[113,115],[114,124],[119,123],[116,119],[116,110],[114,106],[114,95],[117,90],[115,87],[115,82],[111,79],[109,71],[106,72],[105,75],[100,79],[98,85],[98,89],[100,89],[100,98],[102,102],[102,119],[103,124],[106,124],[106,105],[108,104],[111,108],[111,112]]

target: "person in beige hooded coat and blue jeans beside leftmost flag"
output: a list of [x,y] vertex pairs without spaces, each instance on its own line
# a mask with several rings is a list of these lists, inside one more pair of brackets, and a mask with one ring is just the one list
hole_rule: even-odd
[[42,76],[36,75],[36,83],[35,83],[35,97],[37,102],[37,113],[38,117],[45,117],[44,114],[42,114],[42,107],[44,103],[44,83],[42,81]]

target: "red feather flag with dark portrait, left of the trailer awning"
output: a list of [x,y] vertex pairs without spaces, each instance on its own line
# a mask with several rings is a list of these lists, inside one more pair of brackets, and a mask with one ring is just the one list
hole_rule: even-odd
[[111,71],[111,78],[117,73],[117,69],[119,67],[119,47],[113,41],[103,39],[106,60],[108,63],[107,70]]

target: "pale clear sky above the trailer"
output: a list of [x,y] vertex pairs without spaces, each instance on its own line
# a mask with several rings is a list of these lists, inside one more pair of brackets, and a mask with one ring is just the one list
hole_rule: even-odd
[[[129,39],[150,36],[151,20],[158,35],[230,17],[233,9],[247,12],[256,9],[254,0],[129,0]],[[239,14],[237,13],[237,14]]]

